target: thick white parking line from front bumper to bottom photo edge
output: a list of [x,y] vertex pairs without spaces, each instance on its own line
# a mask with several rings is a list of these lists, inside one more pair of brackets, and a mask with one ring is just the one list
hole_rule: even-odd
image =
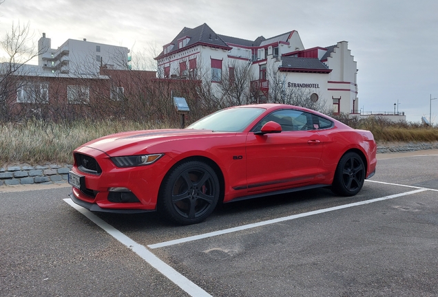
[[149,250],[147,250],[145,246],[136,243],[128,236],[118,231],[112,225],[103,221],[103,219],[97,217],[95,214],[90,212],[90,210],[87,210],[82,206],[77,205],[70,198],[64,199],[64,201],[70,204],[70,206],[72,206],[77,211],[81,212],[81,214],[85,215],[85,217],[87,217],[88,219],[90,219],[90,221],[101,227],[103,230],[105,230],[108,234],[113,236],[115,239],[123,243],[123,245],[126,245],[127,248],[138,254],[138,256],[140,256],[143,260],[149,263],[149,265],[151,265],[156,270],[158,270],[158,272],[169,278],[170,281],[174,282],[176,285],[178,285],[178,287],[183,289],[190,296],[211,297],[210,294],[208,294],[203,289],[201,289],[200,287],[189,281],[188,278],[186,278],[185,276],[174,270],[174,268],[170,267],[169,265],[158,259],[158,257],[152,254],[152,252],[150,252]]

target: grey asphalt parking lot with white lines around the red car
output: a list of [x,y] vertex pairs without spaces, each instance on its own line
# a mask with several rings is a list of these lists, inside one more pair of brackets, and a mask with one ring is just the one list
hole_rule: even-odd
[[[425,153],[425,152],[421,152]],[[198,225],[0,188],[0,296],[438,296],[438,151],[379,155],[355,197],[228,203]]]

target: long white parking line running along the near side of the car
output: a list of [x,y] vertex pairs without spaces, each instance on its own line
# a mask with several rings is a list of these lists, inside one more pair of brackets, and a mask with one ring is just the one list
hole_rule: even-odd
[[426,190],[429,190],[427,188],[419,188],[418,190],[413,190],[410,192],[402,192],[399,194],[395,194],[395,195],[389,195],[389,196],[385,196],[385,197],[381,197],[381,198],[376,198],[376,199],[371,199],[371,200],[365,200],[365,201],[359,201],[359,202],[355,202],[355,203],[350,203],[350,204],[344,204],[342,206],[335,206],[333,208],[325,208],[322,210],[314,210],[311,212],[304,212],[301,214],[293,214],[289,217],[281,217],[278,219],[271,219],[269,221],[261,221],[258,223],[251,223],[248,225],[242,225],[240,227],[234,227],[234,228],[229,228],[229,229],[224,229],[224,230],[219,230],[219,231],[214,231],[214,232],[209,232],[209,233],[205,233],[205,234],[199,234],[199,235],[195,235],[195,236],[189,236],[189,237],[185,237],[182,239],[175,239],[175,240],[171,240],[171,241],[165,241],[162,243],[155,243],[152,245],[147,245],[148,248],[151,249],[156,249],[156,248],[163,248],[165,246],[169,246],[169,245],[176,245],[179,243],[186,243],[189,241],[196,241],[198,239],[205,239],[208,237],[212,237],[212,236],[218,236],[218,235],[222,235],[222,234],[227,234],[227,233],[231,233],[231,232],[237,232],[237,231],[241,231],[241,230],[247,230],[247,229],[251,229],[251,228],[257,228],[263,225],[270,225],[273,223],[279,223],[282,221],[290,221],[293,219],[299,219],[302,217],[309,217],[313,214],[321,214],[324,212],[331,212],[333,210],[340,210],[340,209],[344,209],[344,208],[351,208],[353,206],[360,206],[360,205],[364,205],[364,204],[368,204],[368,203],[373,203],[373,202],[377,202],[377,201],[384,201],[384,200],[388,200],[388,199],[393,199],[393,198],[397,198],[397,197],[402,197],[402,196],[406,196],[406,195],[411,195],[411,194],[416,194],[418,192],[424,192]]

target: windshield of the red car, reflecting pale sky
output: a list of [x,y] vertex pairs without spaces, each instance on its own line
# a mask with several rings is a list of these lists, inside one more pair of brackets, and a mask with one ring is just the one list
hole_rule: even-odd
[[222,109],[194,122],[187,129],[207,129],[224,132],[242,132],[265,109],[260,107],[238,107]]

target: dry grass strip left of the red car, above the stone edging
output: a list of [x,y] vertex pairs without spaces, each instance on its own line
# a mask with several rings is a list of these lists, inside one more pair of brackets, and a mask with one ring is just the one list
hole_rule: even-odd
[[72,164],[74,148],[104,135],[121,131],[160,129],[167,125],[129,121],[48,122],[0,124],[0,167],[2,164]]

